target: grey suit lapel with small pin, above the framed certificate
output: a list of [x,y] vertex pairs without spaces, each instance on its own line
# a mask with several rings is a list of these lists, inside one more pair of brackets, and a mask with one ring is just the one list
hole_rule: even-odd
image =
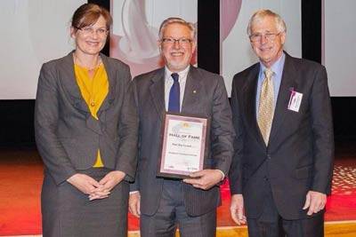
[[187,82],[185,83],[184,97],[182,101],[182,113],[194,114],[197,110],[196,105],[199,95],[204,92],[201,91],[201,76],[198,75],[198,71],[195,67],[190,66],[190,70],[187,75]]

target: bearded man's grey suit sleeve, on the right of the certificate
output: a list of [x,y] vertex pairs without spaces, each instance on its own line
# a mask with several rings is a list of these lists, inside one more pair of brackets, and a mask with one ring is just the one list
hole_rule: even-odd
[[234,131],[231,107],[223,77],[219,77],[214,90],[211,132],[214,169],[222,170],[224,175],[227,176],[233,154]]

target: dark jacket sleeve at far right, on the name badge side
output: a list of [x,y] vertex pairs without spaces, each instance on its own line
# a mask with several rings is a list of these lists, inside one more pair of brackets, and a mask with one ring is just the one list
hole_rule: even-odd
[[334,160],[334,134],[328,76],[325,67],[316,71],[311,94],[314,172],[312,190],[331,192]]

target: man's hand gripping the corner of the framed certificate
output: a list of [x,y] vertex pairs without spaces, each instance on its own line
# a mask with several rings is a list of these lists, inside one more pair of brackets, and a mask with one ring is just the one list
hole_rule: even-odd
[[201,170],[191,173],[190,177],[183,179],[183,182],[207,190],[223,180],[223,173],[220,170]]

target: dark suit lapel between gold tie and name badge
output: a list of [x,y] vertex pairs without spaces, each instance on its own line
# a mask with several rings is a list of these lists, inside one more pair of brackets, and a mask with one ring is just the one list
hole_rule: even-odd
[[287,114],[287,104],[290,97],[291,89],[297,88],[297,83],[295,82],[296,69],[293,65],[292,59],[286,54],[286,60],[283,67],[282,79],[279,87],[279,95],[277,99],[276,108],[274,110],[273,122],[271,126],[271,135],[269,143],[273,141],[276,137],[278,131],[285,121],[285,115]]

